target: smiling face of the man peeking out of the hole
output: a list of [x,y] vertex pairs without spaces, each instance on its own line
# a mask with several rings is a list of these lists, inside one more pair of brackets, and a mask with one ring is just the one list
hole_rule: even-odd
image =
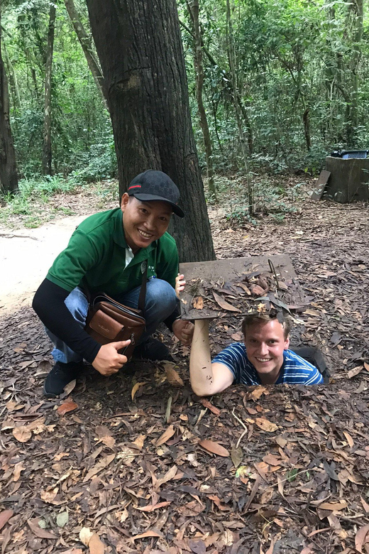
[[278,320],[255,322],[246,327],[247,357],[261,378],[269,376],[271,382],[277,380],[283,364],[283,350],[289,345],[290,339],[285,339],[283,327]]

